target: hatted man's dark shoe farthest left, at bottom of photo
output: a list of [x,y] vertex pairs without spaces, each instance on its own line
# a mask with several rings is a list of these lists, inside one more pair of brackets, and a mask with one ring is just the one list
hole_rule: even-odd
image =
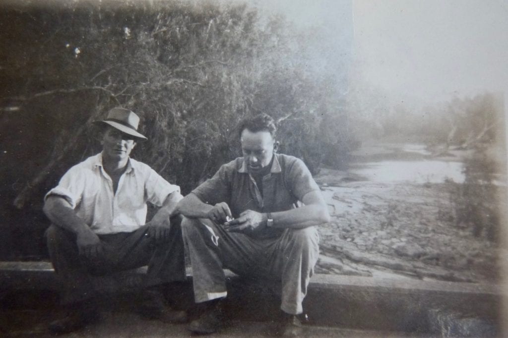
[[52,321],[48,328],[55,334],[70,333],[100,319],[101,315],[95,307],[73,306],[65,317]]

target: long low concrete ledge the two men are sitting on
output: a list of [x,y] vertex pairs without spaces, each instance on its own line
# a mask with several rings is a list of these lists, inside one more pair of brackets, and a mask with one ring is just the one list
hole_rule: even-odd
[[[135,271],[125,276],[104,283],[106,289],[122,284],[132,287],[142,274]],[[192,301],[190,269],[187,276],[189,283],[181,297]],[[270,292],[273,285],[252,283],[229,271],[227,281],[228,308],[235,319],[273,320],[280,301]],[[4,291],[58,288],[48,262],[0,262],[0,284]],[[502,291],[487,284],[317,274],[311,279],[304,309],[315,325],[438,335],[458,327],[453,332],[460,336],[468,336],[467,332],[493,336],[499,334],[502,323],[506,298]]]

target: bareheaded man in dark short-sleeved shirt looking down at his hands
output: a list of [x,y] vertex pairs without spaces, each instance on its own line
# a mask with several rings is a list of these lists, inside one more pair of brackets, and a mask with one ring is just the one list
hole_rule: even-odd
[[330,215],[303,161],[275,153],[275,131],[266,114],[242,121],[243,157],[221,166],[178,205],[185,216],[195,300],[205,309],[190,323],[195,333],[213,333],[223,325],[223,268],[280,281],[280,333],[301,330],[297,315],[319,255],[315,226],[329,222]]

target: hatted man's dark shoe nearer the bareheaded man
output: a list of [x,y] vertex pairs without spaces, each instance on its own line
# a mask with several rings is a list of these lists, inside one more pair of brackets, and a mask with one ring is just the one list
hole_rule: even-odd
[[178,311],[166,305],[162,293],[148,291],[144,294],[137,312],[145,319],[160,320],[164,323],[185,323],[187,322],[187,313]]

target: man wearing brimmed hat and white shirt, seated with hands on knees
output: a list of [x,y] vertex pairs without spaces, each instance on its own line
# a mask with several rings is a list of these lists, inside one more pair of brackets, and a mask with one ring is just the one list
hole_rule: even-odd
[[[144,265],[146,289],[138,312],[183,322],[185,312],[171,309],[162,295],[167,283],[185,279],[175,211],[180,188],[129,157],[136,143],[146,140],[138,132],[138,115],[113,108],[104,121],[94,123],[103,129],[102,152],[70,168],[45,196],[44,212],[52,222],[47,244],[67,308],[66,316],[49,328],[65,333],[98,320],[94,282]],[[149,222],[146,202],[160,207]]]

